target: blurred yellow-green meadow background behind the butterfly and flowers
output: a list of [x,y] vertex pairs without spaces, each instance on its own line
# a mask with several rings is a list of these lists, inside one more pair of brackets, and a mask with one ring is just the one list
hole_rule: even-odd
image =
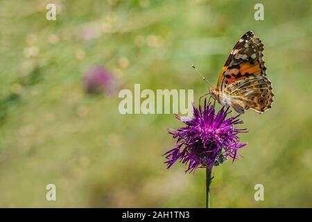
[[[56,21],[46,4],[56,4]],[[254,20],[263,3],[264,21]],[[212,207],[312,207],[312,1],[1,1],[0,207],[205,207],[205,170],[166,170],[172,114],[119,114],[90,95],[103,66],[120,89],[214,84],[236,41],[264,43],[275,102],[241,117],[244,158],[214,168]],[[46,185],[57,201],[46,201]],[[264,201],[254,200],[263,184]]]

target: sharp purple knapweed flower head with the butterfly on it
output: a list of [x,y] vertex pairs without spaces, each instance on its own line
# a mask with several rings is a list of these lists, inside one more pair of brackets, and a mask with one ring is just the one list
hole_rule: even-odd
[[237,151],[246,144],[239,142],[239,133],[247,133],[246,129],[237,129],[236,125],[243,123],[239,115],[227,118],[229,108],[221,108],[216,113],[214,105],[206,103],[199,108],[193,105],[193,117],[175,117],[182,121],[185,127],[177,130],[168,129],[168,133],[177,138],[173,149],[165,153],[167,169],[177,160],[189,164],[187,171],[198,167],[212,169],[222,164],[228,157],[237,159]]

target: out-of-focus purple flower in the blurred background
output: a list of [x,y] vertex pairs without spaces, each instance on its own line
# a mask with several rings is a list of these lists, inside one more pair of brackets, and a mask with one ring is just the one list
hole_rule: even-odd
[[92,67],[83,80],[85,91],[92,94],[115,94],[119,88],[116,77],[103,67]]

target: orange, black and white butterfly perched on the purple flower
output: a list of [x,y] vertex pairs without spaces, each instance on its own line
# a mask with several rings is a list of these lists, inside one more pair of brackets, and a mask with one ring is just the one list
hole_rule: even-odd
[[243,114],[244,110],[262,113],[271,108],[272,85],[266,77],[263,44],[252,31],[245,33],[234,46],[211,96],[223,106]]

